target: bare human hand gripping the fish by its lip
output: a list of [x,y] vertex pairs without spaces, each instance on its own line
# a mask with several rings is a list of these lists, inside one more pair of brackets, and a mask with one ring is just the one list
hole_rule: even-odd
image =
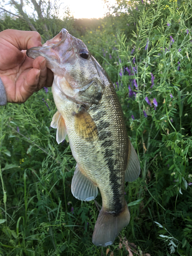
[[23,103],[42,87],[51,87],[53,73],[46,68],[46,59],[31,59],[26,50],[41,46],[38,32],[4,30],[0,32],[0,77],[7,102]]

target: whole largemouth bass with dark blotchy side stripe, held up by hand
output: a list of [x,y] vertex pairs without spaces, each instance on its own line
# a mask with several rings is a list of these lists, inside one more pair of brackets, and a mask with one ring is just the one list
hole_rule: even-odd
[[57,108],[51,126],[57,143],[68,135],[76,167],[71,183],[75,198],[91,201],[98,188],[102,208],[93,231],[96,246],[109,246],[130,222],[125,181],[139,177],[140,162],[127,135],[123,112],[110,78],[84,42],[62,29],[27,56],[46,58],[52,70]]

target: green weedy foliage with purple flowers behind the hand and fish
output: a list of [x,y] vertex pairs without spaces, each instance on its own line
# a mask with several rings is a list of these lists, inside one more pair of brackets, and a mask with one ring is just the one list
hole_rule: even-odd
[[192,256],[192,1],[105,1],[102,19],[68,9],[61,19],[56,2],[10,3],[19,17],[2,12],[1,31],[35,29],[45,42],[67,28],[86,43],[116,88],[141,175],[125,184],[130,224],[114,245],[96,247],[101,197],[71,194],[75,161],[50,127],[51,89],[1,106],[0,255]]

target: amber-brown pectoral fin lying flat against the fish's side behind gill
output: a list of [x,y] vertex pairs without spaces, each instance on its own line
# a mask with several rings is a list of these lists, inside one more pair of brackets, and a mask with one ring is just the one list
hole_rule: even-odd
[[81,108],[75,114],[75,130],[77,134],[87,141],[93,141],[98,137],[97,126],[86,109]]

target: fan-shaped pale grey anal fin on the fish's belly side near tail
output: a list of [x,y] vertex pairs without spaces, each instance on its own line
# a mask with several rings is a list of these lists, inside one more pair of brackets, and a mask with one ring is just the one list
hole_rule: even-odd
[[78,165],[72,179],[71,192],[75,198],[82,201],[91,201],[98,194],[96,184],[80,172]]

